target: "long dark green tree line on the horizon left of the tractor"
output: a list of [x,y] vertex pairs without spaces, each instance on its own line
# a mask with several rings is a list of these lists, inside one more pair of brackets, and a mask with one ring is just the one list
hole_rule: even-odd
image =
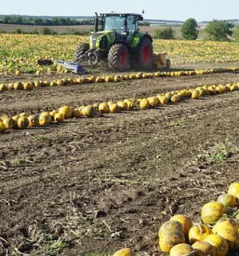
[[73,20],[70,18],[58,18],[52,19],[42,18],[26,18],[18,15],[5,15],[0,19],[0,23],[3,24],[15,24],[15,25],[38,25],[38,26],[72,26],[72,25],[91,25],[92,20]]

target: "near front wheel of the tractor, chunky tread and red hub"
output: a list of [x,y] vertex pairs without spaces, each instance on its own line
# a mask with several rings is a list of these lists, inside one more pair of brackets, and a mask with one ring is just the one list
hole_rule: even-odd
[[125,45],[113,45],[108,54],[108,66],[113,71],[123,72],[129,66],[129,53]]

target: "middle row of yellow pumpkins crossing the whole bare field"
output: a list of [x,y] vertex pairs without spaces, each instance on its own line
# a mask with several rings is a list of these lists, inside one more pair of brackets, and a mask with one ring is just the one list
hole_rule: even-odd
[[29,128],[46,126],[55,121],[61,123],[66,118],[93,117],[94,115],[118,113],[120,111],[133,110],[136,107],[140,109],[149,109],[160,105],[166,105],[168,102],[179,102],[183,98],[199,99],[202,95],[214,95],[226,91],[239,89],[239,83],[227,85],[212,85],[197,88],[182,89],[179,91],[170,91],[165,94],[158,94],[153,97],[144,99],[126,99],[124,101],[108,101],[95,103],[93,105],[72,108],[70,106],[62,106],[60,109],[51,112],[43,112],[39,115],[28,115],[21,113],[12,117],[8,115],[0,116],[0,132],[7,128]]

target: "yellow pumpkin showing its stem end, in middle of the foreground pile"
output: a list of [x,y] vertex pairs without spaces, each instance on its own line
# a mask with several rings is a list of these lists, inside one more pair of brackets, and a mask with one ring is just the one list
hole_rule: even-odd
[[206,236],[212,234],[212,230],[203,224],[194,224],[189,230],[189,241],[191,244],[202,241]]

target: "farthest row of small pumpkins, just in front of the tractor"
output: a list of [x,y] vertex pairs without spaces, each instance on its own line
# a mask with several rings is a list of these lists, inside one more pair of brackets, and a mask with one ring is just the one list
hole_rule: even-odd
[[87,83],[113,83],[120,82],[123,80],[142,79],[142,78],[153,78],[160,76],[180,76],[180,75],[193,75],[193,74],[211,74],[237,71],[239,68],[228,68],[228,69],[209,69],[209,70],[194,70],[194,71],[174,71],[174,72],[155,72],[155,73],[138,73],[138,74],[125,74],[125,75],[107,75],[107,76],[95,76],[91,75],[88,77],[73,78],[62,78],[53,81],[34,81],[34,82],[16,82],[9,84],[0,84],[0,91],[11,90],[11,89],[24,89],[31,90],[39,87],[57,87],[67,85],[78,85]]

